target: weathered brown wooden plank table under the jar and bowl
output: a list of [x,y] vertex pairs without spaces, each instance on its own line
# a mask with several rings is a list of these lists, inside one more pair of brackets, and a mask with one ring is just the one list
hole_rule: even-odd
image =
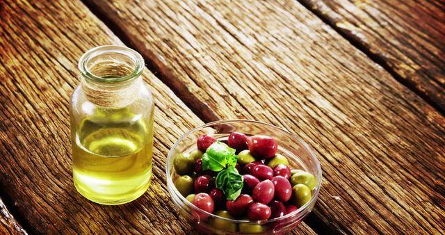
[[[204,122],[248,118],[314,149],[323,186],[293,234],[444,234],[443,1],[0,0],[0,234],[193,234],[165,158]],[[102,206],[72,184],[76,63],[143,55],[156,99],[149,191]]]

